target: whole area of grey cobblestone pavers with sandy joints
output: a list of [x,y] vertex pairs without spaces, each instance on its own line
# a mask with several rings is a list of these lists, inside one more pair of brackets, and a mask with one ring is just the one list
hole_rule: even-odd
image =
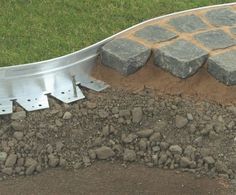
[[124,37],[101,50],[102,63],[121,74],[130,75],[143,67],[152,49],[154,64],[173,76],[185,79],[207,68],[220,82],[236,85],[233,6],[157,19]]

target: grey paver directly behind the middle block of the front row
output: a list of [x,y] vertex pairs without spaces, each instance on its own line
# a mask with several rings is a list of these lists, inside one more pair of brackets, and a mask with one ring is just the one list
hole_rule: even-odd
[[224,49],[235,45],[235,39],[230,37],[223,30],[211,30],[196,34],[194,38],[205,47],[215,50]]

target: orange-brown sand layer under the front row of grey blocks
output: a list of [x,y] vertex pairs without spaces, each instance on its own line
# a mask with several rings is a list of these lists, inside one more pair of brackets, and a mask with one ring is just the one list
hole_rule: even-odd
[[151,88],[157,94],[190,96],[224,104],[236,103],[236,86],[226,86],[218,82],[205,67],[188,79],[180,79],[153,65],[153,59],[150,59],[148,64],[135,74],[122,76],[111,68],[103,66],[100,60],[98,61],[93,76],[105,81],[113,88],[128,91]]

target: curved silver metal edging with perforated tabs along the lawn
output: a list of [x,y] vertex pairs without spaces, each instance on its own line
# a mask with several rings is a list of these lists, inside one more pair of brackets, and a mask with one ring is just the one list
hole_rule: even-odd
[[26,110],[33,111],[49,107],[46,94],[50,94],[65,103],[82,99],[84,95],[77,86],[78,84],[95,91],[101,91],[108,85],[93,79],[90,74],[96,64],[99,48],[108,41],[154,20],[232,5],[236,5],[236,2],[200,7],[156,17],[65,56],[0,68],[0,115],[12,113],[13,100],[16,100]]

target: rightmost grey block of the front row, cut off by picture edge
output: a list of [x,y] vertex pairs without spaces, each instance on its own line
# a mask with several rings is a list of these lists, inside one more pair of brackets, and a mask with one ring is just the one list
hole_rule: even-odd
[[208,72],[226,85],[236,85],[236,50],[210,57]]

